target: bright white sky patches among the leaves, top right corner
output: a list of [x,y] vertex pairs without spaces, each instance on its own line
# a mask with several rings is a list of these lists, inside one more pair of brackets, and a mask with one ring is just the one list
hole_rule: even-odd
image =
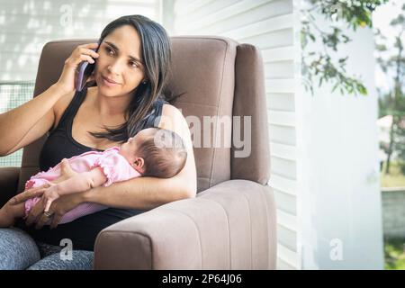
[[[396,32],[390,26],[390,23],[392,19],[396,18],[400,13],[403,13],[403,10],[401,10],[403,4],[405,4],[405,0],[390,0],[387,4],[379,6],[374,11],[374,29],[380,29],[383,35],[387,37],[387,47],[392,47],[392,42],[396,35]],[[390,83],[392,83],[390,76],[384,75],[383,71],[377,66],[375,69],[375,85],[382,88],[384,91],[387,91],[390,89]]]

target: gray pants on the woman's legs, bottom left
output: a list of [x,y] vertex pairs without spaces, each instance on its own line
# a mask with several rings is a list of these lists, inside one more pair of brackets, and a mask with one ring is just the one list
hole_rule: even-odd
[[0,229],[0,270],[90,270],[92,251],[73,250],[71,260],[60,257],[62,247],[35,242],[22,229]]

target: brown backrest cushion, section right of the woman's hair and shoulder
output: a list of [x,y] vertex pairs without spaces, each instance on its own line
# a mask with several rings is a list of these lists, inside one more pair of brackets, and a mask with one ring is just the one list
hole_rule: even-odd
[[232,105],[238,42],[214,36],[172,37],[166,94],[182,94],[175,106],[192,133],[197,189],[230,179]]

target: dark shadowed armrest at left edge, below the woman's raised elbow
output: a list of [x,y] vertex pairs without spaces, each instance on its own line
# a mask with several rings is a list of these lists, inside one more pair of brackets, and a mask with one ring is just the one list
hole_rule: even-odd
[[0,167],[0,207],[17,192],[20,167]]

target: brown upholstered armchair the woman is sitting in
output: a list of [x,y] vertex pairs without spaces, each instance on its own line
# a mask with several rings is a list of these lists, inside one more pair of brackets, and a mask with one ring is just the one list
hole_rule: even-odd
[[[77,45],[95,41],[47,43],[34,95],[58,80]],[[103,229],[94,245],[94,269],[275,269],[275,201],[266,185],[270,154],[260,51],[222,37],[179,36],[171,41],[165,93],[182,94],[173,104],[187,120],[200,120],[193,133],[211,129],[208,147],[202,144],[206,134],[200,134],[200,143],[193,134],[197,196]],[[233,131],[224,124],[228,120]],[[238,120],[243,125],[236,125]],[[232,136],[245,140],[245,146],[239,148]],[[21,167],[0,168],[2,203],[22,192],[25,181],[39,171],[44,140],[23,148]]]

